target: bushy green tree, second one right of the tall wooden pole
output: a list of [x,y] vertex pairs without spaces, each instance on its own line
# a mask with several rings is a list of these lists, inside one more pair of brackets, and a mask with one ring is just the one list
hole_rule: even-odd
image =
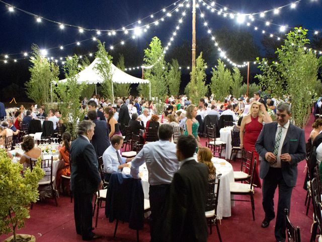
[[229,94],[232,79],[228,69],[220,59],[218,59],[217,70],[212,68],[212,77],[210,82],[210,90],[217,100],[223,99]]

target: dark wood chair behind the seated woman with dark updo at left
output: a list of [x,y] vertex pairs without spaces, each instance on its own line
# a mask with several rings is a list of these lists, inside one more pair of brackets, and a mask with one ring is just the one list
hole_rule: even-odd
[[[30,159],[30,169],[36,165],[38,160]],[[55,200],[56,206],[57,203],[57,191],[54,189],[55,186],[55,176],[52,174],[52,156],[50,159],[41,160],[41,168],[45,171],[44,177],[38,183],[39,191],[50,191],[52,198]]]

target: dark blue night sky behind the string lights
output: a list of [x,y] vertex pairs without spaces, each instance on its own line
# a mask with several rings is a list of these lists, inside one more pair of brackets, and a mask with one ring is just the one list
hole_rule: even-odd
[[[10,2],[7,2],[10,1]],[[76,26],[82,26],[88,29],[121,29],[130,23],[142,20],[144,17],[148,17],[142,20],[141,24],[134,24],[131,27],[142,26],[144,24],[155,21],[157,18],[161,18],[166,15],[168,11],[175,8],[173,5],[175,0],[109,0],[109,1],[75,1],[75,0],[6,0],[8,4],[11,4],[17,8],[31,12],[44,18],[48,18],[64,24],[72,24]],[[177,6],[183,1],[178,1]],[[203,2],[197,1],[200,5],[200,10],[205,14],[208,26],[216,34],[216,29],[222,26],[231,26],[231,29],[247,29],[251,33],[254,33],[256,42],[260,44],[260,40],[263,37],[262,29],[265,29],[267,33],[274,33],[279,31],[279,26],[274,24],[285,25],[288,27],[294,27],[302,25],[311,31],[322,31],[322,6],[320,1],[302,0],[297,3],[295,9],[291,9],[290,6],[280,10],[278,15],[274,15],[273,12],[266,13],[264,18],[259,15],[254,16],[255,21],[250,21],[252,26],[247,26],[246,22],[242,25],[236,23],[236,19],[231,20],[228,16],[223,18],[222,15],[218,16],[217,12],[211,13],[206,9],[206,6],[202,6]],[[210,1],[205,1],[211,4]],[[81,46],[86,47],[93,45],[91,38],[97,37],[101,41],[106,42],[106,46],[113,45],[114,49],[120,45],[120,42],[125,41],[125,46],[128,42],[132,42],[138,46],[138,48],[146,48],[153,36],[157,36],[161,39],[164,46],[168,43],[175,27],[178,25],[179,16],[183,11],[186,11],[186,16],[183,17],[182,27],[177,30],[177,35],[172,42],[173,45],[180,44],[183,40],[191,41],[191,9],[186,8],[186,4],[192,5],[192,1],[186,1],[185,7],[179,8],[179,12],[172,13],[172,17],[165,17],[165,21],[160,21],[158,26],[151,25],[146,33],[142,33],[140,36],[132,39],[132,33],[125,35],[123,31],[117,32],[116,35],[108,36],[107,32],[101,32],[101,36],[97,36],[96,31],[84,31],[79,33],[77,28],[67,27],[63,30],[59,28],[58,24],[51,23],[42,20],[41,23],[37,23],[36,17],[27,15],[23,12],[15,10],[10,12],[8,6],[0,3],[0,66],[4,66],[5,54],[9,55],[8,62],[13,63],[13,59],[24,58],[23,53],[25,51],[31,51],[31,44],[36,43],[41,49],[49,49],[60,45],[67,45],[76,41],[88,41],[81,42]],[[291,1],[282,0],[218,0],[217,4],[227,7],[239,13],[254,13],[262,12],[265,10],[271,10],[283,5],[292,3]],[[172,5],[172,6],[170,6]],[[152,13],[167,8],[167,11],[163,11],[154,15],[154,18],[150,18]],[[219,7],[216,6],[218,9]],[[223,8],[223,7],[222,7]],[[229,12],[229,10],[227,10]],[[259,20],[262,21],[259,21]],[[248,22],[249,20],[247,20]],[[270,21],[269,26],[265,26],[265,21]],[[197,9],[197,36],[207,35],[207,30],[203,26],[204,21],[200,17],[200,12]],[[274,23],[274,24],[273,24]],[[254,30],[254,26],[259,28],[258,31]],[[128,27],[129,28],[129,27]],[[311,39],[313,32],[310,32],[309,38]],[[49,49],[48,56],[59,58],[73,54],[73,48],[76,44],[64,46],[63,50],[59,48]],[[109,50],[113,51],[113,50]],[[171,51],[171,46],[169,52]],[[11,55],[12,53],[18,53],[17,55]],[[83,53],[88,54],[88,53]],[[233,61],[233,53],[227,53],[227,56]],[[17,63],[19,63],[18,61]],[[141,65],[142,63],[137,63]],[[8,64],[7,64],[8,65]],[[8,65],[10,67],[10,65]],[[1,67],[3,68],[3,67]],[[0,77],[1,80],[1,77]],[[3,81],[3,80],[1,80]]]

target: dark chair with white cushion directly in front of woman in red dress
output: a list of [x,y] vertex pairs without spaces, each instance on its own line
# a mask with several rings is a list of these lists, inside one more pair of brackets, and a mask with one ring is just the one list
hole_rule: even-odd
[[233,178],[235,181],[248,181],[248,183],[250,183],[253,156],[253,151],[241,150],[240,170],[233,172]]

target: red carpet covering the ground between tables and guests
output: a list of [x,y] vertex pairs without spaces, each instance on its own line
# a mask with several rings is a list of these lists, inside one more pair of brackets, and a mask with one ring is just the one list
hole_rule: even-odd
[[[313,116],[311,116],[305,128],[305,137],[311,131]],[[205,139],[202,139],[205,142]],[[232,162],[234,169],[239,168],[239,162]],[[298,164],[298,178],[296,187],[293,189],[290,219],[294,225],[301,229],[301,240],[309,241],[310,228],[312,224],[312,206],[308,216],[305,215],[306,207],[304,200],[306,191],[303,190],[305,161]],[[274,225],[275,219],[271,221],[268,228],[262,228],[261,222],[264,218],[262,208],[262,190],[255,189],[255,221],[252,219],[251,204],[248,202],[235,202],[232,207],[232,216],[221,220],[219,225],[223,241],[275,241]],[[278,193],[275,194],[275,206],[277,206]],[[275,207],[276,209],[276,207]],[[109,223],[105,218],[104,208],[100,209],[98,227],[95,233],[103,234],[105,237],[95,241],[136,241],[136,232],[128,227],[127,223],[119,223],[116,238],[113,238],[114,223]],[[93,219],[93,225],[95,219]],[[77,235],[73,220],[73,204],[68,197],[58,199],[58,207],[51,199],[45,202],[38,202],[33,206],[30,219],[26,220],[25,227],[18,230],[18,233],[28,233],[36,236],[37,241],[80,241],[82,237]],[[139,233],[140,241],[149,241],[149,226],[146,222],[144,229]],[[3,241],[7,235],[1,235]],[[208,241],[218,241],[216,229],[209,235]]]

